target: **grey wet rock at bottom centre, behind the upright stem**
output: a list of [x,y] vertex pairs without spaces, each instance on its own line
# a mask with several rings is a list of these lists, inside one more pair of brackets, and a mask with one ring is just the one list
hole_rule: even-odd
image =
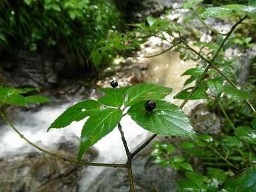
[[[183,179],[170,166],[158,166],[149,156],[153,148],[148,145],[132,159],[132,175],[137,192],[172,192],[179,188],[175,180]],[[107,168],[88,187],[90,192],[129,192],[129,177],[126,168]]]

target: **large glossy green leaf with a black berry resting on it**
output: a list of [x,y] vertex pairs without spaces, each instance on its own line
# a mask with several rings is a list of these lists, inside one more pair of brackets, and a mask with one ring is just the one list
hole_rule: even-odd
[[127,114],[136,124],[150,132],[163,136],[188,136],[198,140],[189,118],[175,104],[164,100],[156,100],[156,108],[146,111],[145,102],[138,102],[129,108]]

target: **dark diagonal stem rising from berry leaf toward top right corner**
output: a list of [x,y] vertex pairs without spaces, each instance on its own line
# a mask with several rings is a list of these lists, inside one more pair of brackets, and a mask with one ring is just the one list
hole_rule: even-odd
[[212,63],[214,62],[214,60],[218,57],[218,54],[221,50],[221,48],[223,47],[223,45],[225,44],[225,42],[227,42],[229,36],[231,35],[231,33],[234,31],[234,29],[236,29],[236,27],[244,20],[246,19],[247,16],[244,16],[241,20],[239,20],[239,22],[237,22],[236,24],[234,24],[234,26],[232,26],[232,28],[230,29],[230,31],[228,32],[227,36],[225,37],[225,39],[223,40],[223,42],[221,43],[220,47],[218,48],[218,50],[215,52],[214,56],[212,57],[211,61],[209,62],[209,64],[207,65],[207,67],[205,68],[202,76],[200,77],[200,79],[196,82],[195,86],[193,87],[193,89],[191,90],[191,92],[189,93],[188,97],[184,100],[184,102],[182,102],[182,104],[180,105],[180,108],[183,108],[183,106],[186,104],[186,102],[188,102],[189,98],[191,97],[191,95],[195,92],[196,88],[198,87],[198,84],[200,84],[200,82],[202,81],[202,79],[204,79],[205,74],[207,73],[207,71],[209,70],[209,68],[211,67]]

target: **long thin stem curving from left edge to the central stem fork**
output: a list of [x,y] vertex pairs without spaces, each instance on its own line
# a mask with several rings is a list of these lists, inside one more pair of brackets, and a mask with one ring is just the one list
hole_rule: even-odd
[[57,157],[58,159],[62,159],[63,161],[68,161],[70,163],[76,163],[76,164],[83,164],[83,165],[87,165],[87,166],[109,166],[109,167],[119,167],[119,168],[126,168],[125,164],[109,164],[109,163],[88,163],[88,162],[83,162],[83,161],[76,161],[74,159],[69,159],[63,156],[59,156],[57,154],[54,154],[52,152],[49,152],[48,150],[45,150],[44,148],[38,147],[38,145],[35,145],[34,143],[32,143],[31,141],[29,141],[26,137],[24,137],[23,134],[21,134],[13,125],[12,123],[8,120],[8,118],[6,118],[6,116],[4,115],[3,112],[0,112],[1,116],[3,117],[3,119],[5,120],[5,122],[10,125],[10,127],[12,127],[12,129],[17,132],[17,134],[19,134],[20,138],[22,138],[23,140],[25,140],[27,143],[29,143],[30,145],[32,145],[33,147],[37,148],[38,150],[44,152],[45,154],[49,154],[50,156],[54,156]]

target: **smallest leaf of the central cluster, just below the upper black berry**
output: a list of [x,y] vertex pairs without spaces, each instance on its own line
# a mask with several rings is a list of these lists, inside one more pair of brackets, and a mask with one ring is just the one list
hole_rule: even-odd
[[122,95],[107,95],[105,97],[100,97],[98,101],[105,106],[121,108],[124,104],[124,97]]

